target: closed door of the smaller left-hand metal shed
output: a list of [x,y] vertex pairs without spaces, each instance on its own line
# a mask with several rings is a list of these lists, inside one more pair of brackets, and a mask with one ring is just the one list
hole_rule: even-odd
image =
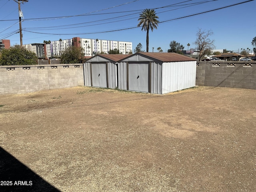
[[92,63],[92,86],[107,87],[106,63]]

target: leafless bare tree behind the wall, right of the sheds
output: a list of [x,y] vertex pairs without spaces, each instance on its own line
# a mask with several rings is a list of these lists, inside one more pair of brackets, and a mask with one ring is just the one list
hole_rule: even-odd
[[196,33],[196,48],[199,51],[199,60],[201,60],[202,56],[206,54],[208,50],[213,50],[215,48],[214,46],[214,40],[210,39],[210,36],[213,34],[212,30],[202,30],[199,29]]

